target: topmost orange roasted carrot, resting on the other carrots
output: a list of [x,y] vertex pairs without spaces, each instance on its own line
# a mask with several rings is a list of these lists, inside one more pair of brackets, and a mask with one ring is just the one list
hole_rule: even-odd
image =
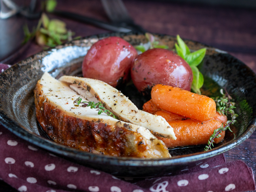
[[178,87],[157,84],[151,90],[151,98],[155,105],[167,112],[198,121],[211,120],[216,113],[213,99]]

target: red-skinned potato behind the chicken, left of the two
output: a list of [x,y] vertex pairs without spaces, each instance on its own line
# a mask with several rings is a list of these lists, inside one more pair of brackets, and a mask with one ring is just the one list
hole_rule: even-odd
[[84,57],[83,76],[116,87],[129,81],[131,64],[137,55],[136,49],[120,37],[101,39],[91,46]]

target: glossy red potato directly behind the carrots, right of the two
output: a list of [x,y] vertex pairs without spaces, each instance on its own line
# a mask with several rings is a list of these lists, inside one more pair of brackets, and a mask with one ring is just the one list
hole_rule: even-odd
[[132,81],[143,94],[155,84],[191,90],[193,73],[188,63],[173,51],[149,49],[135,57],[131,68]]

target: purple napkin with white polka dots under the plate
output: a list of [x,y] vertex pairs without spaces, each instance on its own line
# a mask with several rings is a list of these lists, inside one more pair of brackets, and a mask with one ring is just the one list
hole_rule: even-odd
[[[1,69],[8,68],[0,64]],[[120,179],[63,158],[0,125],[0,179],[20,192],[242,192],[255,190],[251,168],[224,155],[175,176]],[[0,189],[1,191],[1,189]]]

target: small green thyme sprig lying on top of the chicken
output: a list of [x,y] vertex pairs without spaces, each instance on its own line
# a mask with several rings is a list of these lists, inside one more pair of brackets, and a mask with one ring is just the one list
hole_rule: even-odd
[[78,97],[73,103],[76,107],[78,107],[80,104],[82,104],[81,107],[90,107],[91,109],[97,109],[99,115],[101,113],[106,113],[108,116],[117,119],[117,117],[112,112],[110,112],[108,109],[106,109],[101,102],[95,103],[94,101],[89,101],[89,102],[82,101],[82,98]]

